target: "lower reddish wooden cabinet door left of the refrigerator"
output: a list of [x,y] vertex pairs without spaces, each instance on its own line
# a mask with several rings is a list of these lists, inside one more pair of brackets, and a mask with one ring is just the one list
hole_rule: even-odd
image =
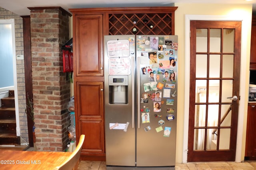
[[103,82],[77,82],[76,100],[79,136],[85,135],[81,155],[105,156]]

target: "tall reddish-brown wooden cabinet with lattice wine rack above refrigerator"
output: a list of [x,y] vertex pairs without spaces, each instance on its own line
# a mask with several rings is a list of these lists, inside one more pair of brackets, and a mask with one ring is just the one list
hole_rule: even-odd
[[69,9],[73,14],[76,136],[85,134],[82,160],[106,159],[104,35],[174,35],[174,12],[177,8]]

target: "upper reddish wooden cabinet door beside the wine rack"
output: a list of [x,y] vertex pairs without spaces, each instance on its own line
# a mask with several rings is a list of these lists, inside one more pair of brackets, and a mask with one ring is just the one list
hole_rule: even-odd
[[76,76],[103,76],[102,15],[75,16]]

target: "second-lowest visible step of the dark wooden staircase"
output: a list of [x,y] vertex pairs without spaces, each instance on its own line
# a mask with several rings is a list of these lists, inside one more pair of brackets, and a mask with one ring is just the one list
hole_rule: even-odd
[[16,134],[16,120],[15,119],[0,120],[0,133]]

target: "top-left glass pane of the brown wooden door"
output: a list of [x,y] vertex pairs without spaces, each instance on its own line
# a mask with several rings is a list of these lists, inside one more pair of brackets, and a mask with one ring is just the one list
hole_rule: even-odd
[[207,52],[207,29],[196,29],[196,52]]

